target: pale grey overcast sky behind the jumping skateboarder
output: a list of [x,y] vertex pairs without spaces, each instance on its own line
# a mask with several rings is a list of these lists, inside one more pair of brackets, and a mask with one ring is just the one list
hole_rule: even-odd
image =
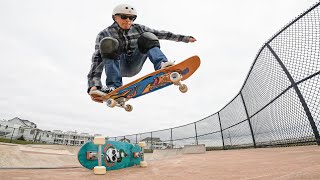
[[[118,136],[184,125],[219,111],[240,90],[260,49],[318,0],[0,0],[0,119],[19,117],[43,130]],[[87,95],[96,35],[113,8],[129,3],[135,23],[195,43],[161,40],[170,60],[199,55],[186,94],[170,86],[110,109]],[[150,61],[128,83],[153,71]],[[104,76],[102,78],[104,82]]]

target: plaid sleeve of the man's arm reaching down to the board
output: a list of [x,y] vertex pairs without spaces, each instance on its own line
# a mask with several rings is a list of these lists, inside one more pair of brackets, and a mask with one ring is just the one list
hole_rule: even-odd
[[87,76],[87,78],[88,78],[87,92],[88,93],[90,91],[90,88],[93,86],[102,87],[101,74],[103,71],[103,62],[102,62],[99,46],[100,46],[100,41],[103,38],[104,38],[103,33],[99,33],[96,38],[95,51],[92,55],[92,60],[91,60],[91,68],[90,68],[89,74]]

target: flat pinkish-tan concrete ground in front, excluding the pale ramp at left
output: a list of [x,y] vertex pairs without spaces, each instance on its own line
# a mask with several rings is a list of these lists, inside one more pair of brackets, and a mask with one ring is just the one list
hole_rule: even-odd
[[320,146],[259,148],[181,154],[149,160],[94,175],[81,167],[61,169],[0,169],[0,179],[320,179]]

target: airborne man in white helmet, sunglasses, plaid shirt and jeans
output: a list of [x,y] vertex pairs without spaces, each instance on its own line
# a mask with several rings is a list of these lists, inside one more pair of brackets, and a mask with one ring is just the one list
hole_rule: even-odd
[[[138,74],[147,58],[153,63],[155,70],[172,65],[160,50],[159,39],[185,43],[196,41],[192,36],[134,24],[136,18],[137,11],[133,6],[120,4],[112,13],[114,23],[98,34],[91,69],[87,76],[87,92],[92,100],[102,103],[103,100],[99,96],[121,87],[122,77]],[[107,76],[106,87],[101,83],[103,68]]]

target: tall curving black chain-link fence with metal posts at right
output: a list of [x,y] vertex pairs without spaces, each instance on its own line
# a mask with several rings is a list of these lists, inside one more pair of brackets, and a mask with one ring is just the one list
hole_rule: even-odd
[[200,121],[165,130],[111,137],[155,148],[320,145],[320,2],[258,52],[235,98]]

